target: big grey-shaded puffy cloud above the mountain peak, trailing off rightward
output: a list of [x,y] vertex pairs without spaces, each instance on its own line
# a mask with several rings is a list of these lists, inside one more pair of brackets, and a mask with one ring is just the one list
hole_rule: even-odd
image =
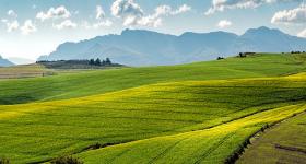
[[143,10],[133,0],[116,0],[111,5],[111,14],[123,20],[125,26],[160,26],[163,15],[176,15],[191,10],[191,7],[183,4],[177,10],[169,5],[160,5],[151,15],[144,15]]

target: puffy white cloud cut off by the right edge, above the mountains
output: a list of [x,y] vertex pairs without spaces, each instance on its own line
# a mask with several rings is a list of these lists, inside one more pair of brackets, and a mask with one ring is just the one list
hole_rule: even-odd
[[272,17],[271,23],[306,23],[306,4],[301,4],[292,10],[276,12]]

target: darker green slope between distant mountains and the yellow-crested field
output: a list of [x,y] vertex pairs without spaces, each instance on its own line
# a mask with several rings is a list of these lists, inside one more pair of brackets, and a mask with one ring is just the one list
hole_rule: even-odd
[[0,81],[0,104],[68,99],[161,82],[285,75],[306,70],[305,57],[262,54],[181,66],[125,68]]

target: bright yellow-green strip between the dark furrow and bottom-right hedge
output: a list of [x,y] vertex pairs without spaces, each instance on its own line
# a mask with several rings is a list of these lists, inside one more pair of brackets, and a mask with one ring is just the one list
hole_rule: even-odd
[[[214,128],[157,137],[78,154],[85,163],[224,163],[263,125],[305,110],[292,105],[255,114]],[[252,161],[250,157],[249,161]],[[262,161],[261,161],[262,162]],[[247,162],[248,163],[248,162]]]

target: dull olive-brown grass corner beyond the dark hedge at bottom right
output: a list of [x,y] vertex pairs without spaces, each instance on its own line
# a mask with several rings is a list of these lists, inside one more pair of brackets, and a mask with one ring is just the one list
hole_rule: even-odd
[[[266,131],[252,142],[237,163],[305,163],[305,126],[306,114],[304,113]],[[290,148],[290,150],[280,149],[276,145]]]

